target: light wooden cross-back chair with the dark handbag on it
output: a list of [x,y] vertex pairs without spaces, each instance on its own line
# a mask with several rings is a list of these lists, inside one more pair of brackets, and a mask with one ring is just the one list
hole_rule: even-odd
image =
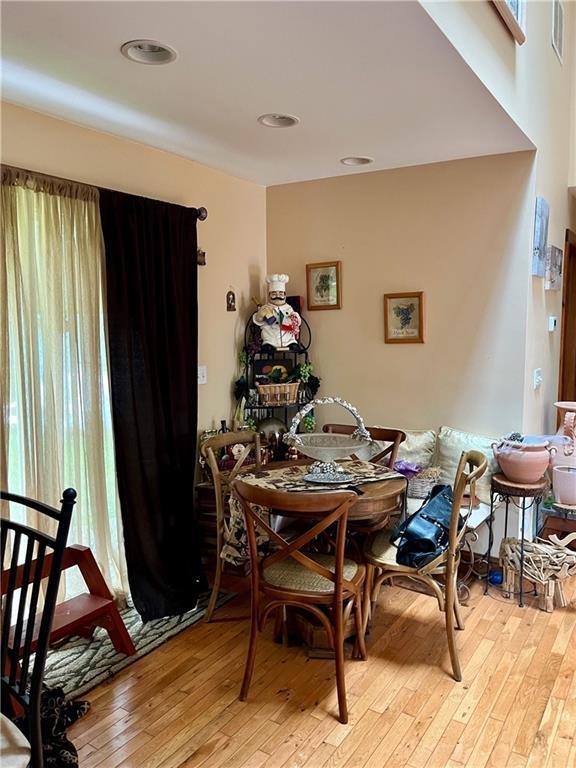
[[[366,589],[364,591],[364,628],[366,629],[372,604],[376,603],[380,587],[384,581],[395,576],[408,576],[428,586],[438,600],[441,611],[445,614],[448,649],[452,662],[454,679],[462,680],[460,662],[454,637],[454,623],[458,629],[464,629],[456,585],[460,548],[466,532],[466,525],[460,522],[460,510],[466,488],[470,488],[470,498],[474,498],[475,483],[486,471],[487,461],[480,451],[462,453],[453,487],[453,502],[450,516],[450,533],[447,549],[427,565],[412,568],[396,562],[396,547],[390,542],[390,529],[383,529],[371,536],[365,544],[364,557],[367,565]],[[468,471],[467,471],[467,468]],[[460,529],[459,529],[460,528]]]

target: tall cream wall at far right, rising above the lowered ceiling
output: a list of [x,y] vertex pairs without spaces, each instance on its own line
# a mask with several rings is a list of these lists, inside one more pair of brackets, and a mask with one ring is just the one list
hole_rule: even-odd
[[[569,186],[576,177],[576,124],[574,72],[576,4],[564,3],[564,61],[551,45],[550,0],[526,4],[526,42],[519,46],[488,2],[423,2],[477,76],[537,147],[531,215],[537,195],[550,205],[548,243],[564,246],[570,223]],[[572,169],[572,170],[571,170]],[[532,226],[532,225],[530,225]],[[519,233],[520,236],[520,233]],[[531,248],[531,244],[529,246]],[[529,259],[526,264],[529,269]],[[526,362],[523,392],[524,431],[547,433],[554,429],[557,399],[560,334],[548,332],[548,317],[560,317],[559,292],[545,291],[544,280],[530,278],[527,304]],[[533,388],[534,369],[543,383]]]

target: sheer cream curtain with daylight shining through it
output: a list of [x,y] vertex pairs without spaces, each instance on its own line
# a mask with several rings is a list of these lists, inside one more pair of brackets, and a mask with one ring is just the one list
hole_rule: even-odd
[[0,485],[53,506],[76,488],[68,541],[127,593],[98,190],[9,167],[1,190]]

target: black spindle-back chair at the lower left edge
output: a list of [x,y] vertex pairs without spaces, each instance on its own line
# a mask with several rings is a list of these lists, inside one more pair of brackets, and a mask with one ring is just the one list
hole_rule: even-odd
[[[76,491],[62,494],[61,509],[0,491],[0,499],[55,520],[54,536],[0,519],[2,542],[2,765],[43,768],[40,696],[62,558]],[[43,583],[45,581],[45,583]],[[39,610],[40,592],[44,596]],[[12,723],[18,715],[22,731]]]

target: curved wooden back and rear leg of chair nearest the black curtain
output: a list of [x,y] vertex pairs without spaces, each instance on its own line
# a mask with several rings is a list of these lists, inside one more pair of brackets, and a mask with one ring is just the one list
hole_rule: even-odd
[[[221,462],[222,451],[233,445],[242,445],[243,450],[236,461],[229,459],[226,462],[231,464],[230,469],[221,469],[219,461]],[[200,454],[210,469],[216,497],[216,566],[212,594],[210,595],[205,614],[206,621],[211,621],[222,581],[223,562],[220,555],[227,532],[226,507],[230,497],[230,483],[234,480],[240,469],[249,462],[253,463],[255,469],[261,468],[260,435],[252,430],[224,432],[223,434],[208,438],[202,444]]]

